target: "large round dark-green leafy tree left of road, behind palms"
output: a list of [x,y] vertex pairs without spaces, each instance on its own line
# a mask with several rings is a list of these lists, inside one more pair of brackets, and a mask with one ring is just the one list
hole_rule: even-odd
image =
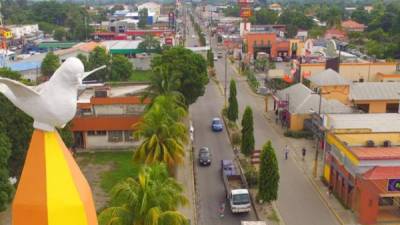
[[194,103],[205,91],[208,83],[207,62],[203,56],[183,47],[172,47],[164,50],[151,62],[155,75],[160,71],[174,82],[174,91],[185,97],[185,103]]

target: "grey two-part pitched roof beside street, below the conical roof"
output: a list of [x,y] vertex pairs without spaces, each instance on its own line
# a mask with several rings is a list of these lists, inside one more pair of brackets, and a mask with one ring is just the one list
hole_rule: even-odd
[[[294,114],[318,112],[320,96],[301,83],[277,92],[281,100],[289,99],[289,111]],[[352,109],[337,100],[321,99],[321,113],[351,113]]]

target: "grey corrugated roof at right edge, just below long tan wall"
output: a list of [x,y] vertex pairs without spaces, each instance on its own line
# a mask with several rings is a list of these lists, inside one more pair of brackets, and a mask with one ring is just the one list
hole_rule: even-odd
[[400,83],[365,82],[350,87],[351,100],[399,100]]

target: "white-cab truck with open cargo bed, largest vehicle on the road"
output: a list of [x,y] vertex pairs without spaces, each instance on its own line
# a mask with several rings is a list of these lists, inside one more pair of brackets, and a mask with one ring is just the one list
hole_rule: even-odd
[[239,167],[233,160],[221,160],[221,171],[226,198],[232,213],[250,212],[250,194],[246,178],[240,172]]

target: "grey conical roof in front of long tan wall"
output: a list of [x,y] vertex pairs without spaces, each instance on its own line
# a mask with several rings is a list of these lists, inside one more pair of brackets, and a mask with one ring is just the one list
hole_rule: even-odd
[[319,86],[348,85],[350,82],[332,69],[324,70],[308,78],[312,83]]

